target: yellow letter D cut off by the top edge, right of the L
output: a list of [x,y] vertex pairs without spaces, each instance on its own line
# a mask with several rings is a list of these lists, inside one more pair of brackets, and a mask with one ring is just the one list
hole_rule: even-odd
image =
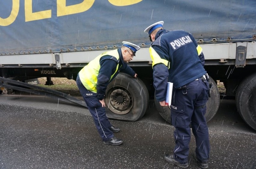
[[95,0],[84,0],[75,5],[66,6],[66,0],[57,0],[57,16],[84,12],[93,6]]

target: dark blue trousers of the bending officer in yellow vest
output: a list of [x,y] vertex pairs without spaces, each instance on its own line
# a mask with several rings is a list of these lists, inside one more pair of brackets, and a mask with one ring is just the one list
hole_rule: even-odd
[[76,83],[81,95],[84,98],[85,103],[87,104],[87,108],[93,116],[94,123],[102,140],[107,141],[111,139],[114,137],[114,134],[109,130],[111,123],[106,116],[105,107],[102,107],[102,104],[99,102],[96,93],[93,93],[84,87],[79,78],[79,74],[77,76]]

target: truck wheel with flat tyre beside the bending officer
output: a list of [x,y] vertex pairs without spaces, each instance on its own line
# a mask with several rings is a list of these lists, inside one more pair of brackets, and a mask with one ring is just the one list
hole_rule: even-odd
[[106,115],[110,119],[136,121],[146,112],[148,90],[139,78],[119,73],[106,89]]

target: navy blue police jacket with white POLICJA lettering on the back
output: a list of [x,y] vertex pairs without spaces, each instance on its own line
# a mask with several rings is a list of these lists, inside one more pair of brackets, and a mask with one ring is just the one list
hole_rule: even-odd
[[165,100],[168,81],[178,89],[206,74],[203,52],[198,53],[196,40],[186,31],[159,30],[151,47],[170,64],[169,69],[163,63],[153,66],[157,101]]

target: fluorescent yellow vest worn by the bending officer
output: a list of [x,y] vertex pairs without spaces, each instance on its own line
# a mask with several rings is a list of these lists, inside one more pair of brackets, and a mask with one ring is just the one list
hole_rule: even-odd
[[[99,69],[100,69],[99,60],[101,57],[104,57],[106,55],[113,56],[114,58],[116,58],[116,60],[119,60],[119,54],[118,54],[117,50],[118,49],[113,50],[113,51],[107,51],[107,52],[100,54],[95,59],[90,61],[88,63],[88,65],[84,66],[84,68],[81,69],[81,71],[79,72],[79,77],[80,77],[82,84],[84,85],[84,87],[87,90],[97,93],[97,88],[96,88],[97,81],[98,81],[97,77],[98,77]],[[117,68],[116,68],[116,71],[114,72],[114,74],[117,72],[118,66],[119,66],[119,63],[117,64]],[[111,75],[110,80],[112,79],[114,74]]]

